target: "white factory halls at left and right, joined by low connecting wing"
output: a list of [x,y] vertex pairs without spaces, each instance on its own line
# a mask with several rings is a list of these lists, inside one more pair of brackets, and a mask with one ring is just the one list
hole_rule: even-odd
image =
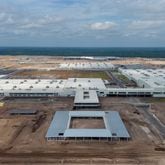
[[165,70],[127,70],[122,74],[136,82],[138,87],[107,87],[99,78],[69,79],[0,79],[0,96],[4,97],[75,97],[78,90],[95,91],[104,96],[165,97]]

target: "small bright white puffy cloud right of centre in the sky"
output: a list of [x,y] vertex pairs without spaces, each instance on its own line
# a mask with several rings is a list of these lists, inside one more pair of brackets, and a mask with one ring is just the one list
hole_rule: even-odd
[[90,25],[90,29],[92,30],[109,30],[117,26],[114,22],[96,22]]

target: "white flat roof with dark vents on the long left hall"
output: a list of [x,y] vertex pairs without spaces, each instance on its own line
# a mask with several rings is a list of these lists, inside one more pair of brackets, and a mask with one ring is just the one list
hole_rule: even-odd
[[106,89],[99,78],[69,79],[0,79],[0,91],[50,92],[65,89]]

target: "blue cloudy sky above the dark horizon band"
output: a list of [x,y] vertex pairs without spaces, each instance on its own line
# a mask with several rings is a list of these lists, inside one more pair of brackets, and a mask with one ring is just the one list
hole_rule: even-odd
[[165,0],[0,0],[0,46],[165,46]]

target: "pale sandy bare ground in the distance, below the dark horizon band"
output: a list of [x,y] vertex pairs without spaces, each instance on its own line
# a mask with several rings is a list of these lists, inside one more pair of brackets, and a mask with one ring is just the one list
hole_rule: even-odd
[[[55,70],[59,69],[60,63],[77,63],[89,62],[87,60],[64,60],[62,58],[49,57],[49,56],[1,56],[0,68],[8,69],[42,69],[42,70]],[[92,62],[92,61],[90,61]],[[143,64],[146,66],[164,67],[165,60],[160,59],[144,59],[144,58],[125,58],[119,60],[106,61],[112,64]]]

